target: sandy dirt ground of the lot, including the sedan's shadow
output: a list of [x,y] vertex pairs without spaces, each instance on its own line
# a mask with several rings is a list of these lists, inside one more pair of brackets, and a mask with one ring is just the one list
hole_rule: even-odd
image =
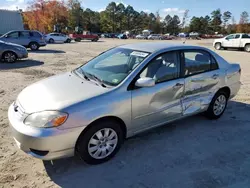
[[[100,52],[138,40],[53,44],[0,64],[0,187],[249,188],[250,53],[219,51],[242,67],[242,87],[217,121],[190,117],[128,139],[116,157],[90,166],[75,157],[43,162],[19,151],[7,109],[29,84],[70,71]],[[182,41],[163,41],[182,42]],[[211,40],[187,41],[212,48]]]

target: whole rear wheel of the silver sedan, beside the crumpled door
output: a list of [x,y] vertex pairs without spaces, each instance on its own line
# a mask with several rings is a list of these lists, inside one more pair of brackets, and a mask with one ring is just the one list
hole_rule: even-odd
[[214,98],[212,99],[208,110],[206,111],[206,116],[209,119],[218,119],[220,118],[227,107],[228,102],[228,94],[224,91],[219,91],[215,94]]

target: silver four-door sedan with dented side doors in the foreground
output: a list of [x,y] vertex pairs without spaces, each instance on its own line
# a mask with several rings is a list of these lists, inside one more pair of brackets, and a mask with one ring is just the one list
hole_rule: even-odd
[[8,117],[26,153],[43,160],[76,153],[97,164],[139,132],[201,112],[219,118],[240,74],[238,64],[203,47],[129,44],[28,86]]

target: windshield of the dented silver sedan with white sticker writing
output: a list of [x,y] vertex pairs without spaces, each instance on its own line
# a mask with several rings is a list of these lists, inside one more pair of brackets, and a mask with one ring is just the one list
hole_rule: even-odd
[[117,86],[147,56],[141,52],[125,48],[113,48],[90,60],[75,71],[88,80],[102,83],[102,86]]

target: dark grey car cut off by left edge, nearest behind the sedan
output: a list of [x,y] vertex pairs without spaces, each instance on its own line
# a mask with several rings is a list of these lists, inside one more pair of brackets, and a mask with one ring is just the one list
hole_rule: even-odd
[[6,43],[0,40],[0,60],[6,63],[14,63],[17,59],[23,59],[28,57],[28,52],[25,47]]

